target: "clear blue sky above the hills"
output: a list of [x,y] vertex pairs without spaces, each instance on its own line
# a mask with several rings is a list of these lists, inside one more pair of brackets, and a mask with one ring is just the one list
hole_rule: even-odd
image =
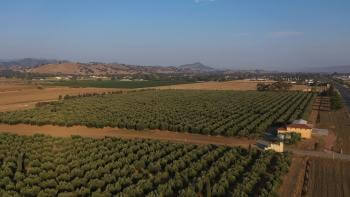
[[0,59],[350,64],[349,0],[1,0]]

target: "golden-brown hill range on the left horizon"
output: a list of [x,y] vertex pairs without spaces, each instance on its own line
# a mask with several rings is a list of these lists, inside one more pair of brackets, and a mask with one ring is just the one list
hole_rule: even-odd
[[66,60],[47,60],[24,58],[11,61],[0,61],[0,69],[18,72],[62,75],[119,75],[119,74],[177,74],[217,72],[214,68],[196,62],[181,66],[140,66],[102,62],[70,62]]

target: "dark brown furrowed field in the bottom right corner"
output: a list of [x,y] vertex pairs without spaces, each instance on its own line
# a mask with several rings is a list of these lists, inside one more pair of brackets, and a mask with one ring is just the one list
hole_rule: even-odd
[[350,196],[350,162],[310,158],[305,196]]

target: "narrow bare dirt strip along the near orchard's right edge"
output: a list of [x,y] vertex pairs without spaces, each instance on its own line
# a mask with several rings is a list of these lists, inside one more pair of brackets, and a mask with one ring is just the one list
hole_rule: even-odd
[[288,174],[283,178],[283,184],[278,190],[279,196],[299,197],[301,196],[306,157],[294,156]]

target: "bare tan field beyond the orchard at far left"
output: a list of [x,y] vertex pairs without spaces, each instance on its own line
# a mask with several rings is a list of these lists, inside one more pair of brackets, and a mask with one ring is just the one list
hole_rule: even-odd
[[[40,88],[38,88],[40,87]],[[19,80],[0,80],[0,112],[33,108],[37,102],[57,100],[59,95],[102,93],[116,89],[41,87]]]

